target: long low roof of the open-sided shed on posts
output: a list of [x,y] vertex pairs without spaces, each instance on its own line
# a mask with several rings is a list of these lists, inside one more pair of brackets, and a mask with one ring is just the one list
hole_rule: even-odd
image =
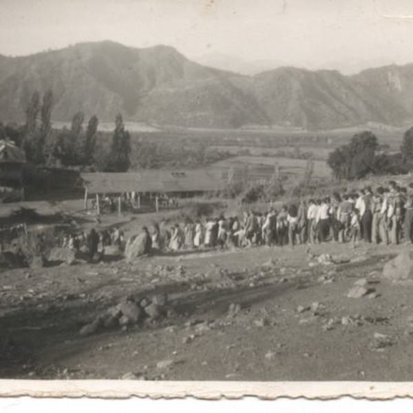
[[222,171],[213,169],[93,172],[81,173],[81,178],[88,193],[208,192],[220,191],[226,184]]

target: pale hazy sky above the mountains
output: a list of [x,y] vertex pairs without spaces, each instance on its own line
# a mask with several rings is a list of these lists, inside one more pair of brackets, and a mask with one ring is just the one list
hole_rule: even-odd
[[413,62],[412,0],[0,0],[0,53],[109,39],[202,63],[354,72]]

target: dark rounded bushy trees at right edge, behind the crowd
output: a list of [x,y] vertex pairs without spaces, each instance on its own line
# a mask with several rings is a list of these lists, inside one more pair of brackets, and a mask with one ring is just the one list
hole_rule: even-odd
[[357,180],[369,174],[407,173],[413,170],[413,127],[405,131],[400,151],[387,153],[387,145],[379,145],[371,131],[352,136],[328,156],[328,166],[337,180]]

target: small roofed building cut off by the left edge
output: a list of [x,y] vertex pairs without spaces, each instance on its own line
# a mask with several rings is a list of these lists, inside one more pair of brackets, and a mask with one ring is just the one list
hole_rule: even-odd
[[0,202],[23,200],[25,153],[11,140],[0,140]]

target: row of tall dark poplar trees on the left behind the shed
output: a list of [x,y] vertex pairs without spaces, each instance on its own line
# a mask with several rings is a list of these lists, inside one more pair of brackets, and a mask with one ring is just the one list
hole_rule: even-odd
[[89,118],[85,127],[85,114],[76,112],[70,129],[56,130],[51,122],[53,104],[52,90],[47,90],[43,98],[39,92],[33,92],[25,109],[25,123],[21,126],[0,125],[0,138],[8,136],[14,140],[25,151],[28,162],[34,165],[94,166],[107,172],[129,169],[130,134],[125,129],[122,114],[116,115],[109,150],[96,153],[98,117]]

